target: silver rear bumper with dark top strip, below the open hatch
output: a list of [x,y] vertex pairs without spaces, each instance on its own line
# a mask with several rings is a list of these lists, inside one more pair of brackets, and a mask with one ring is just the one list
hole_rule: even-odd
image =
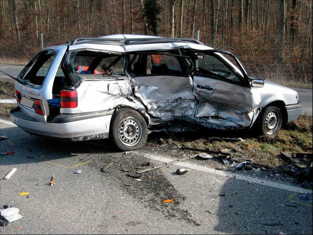
[[108,138],[111,118],[112,112],[61,114],[51,122],[42,123],[25,115],[19,108],[10,111],[11,121],[28,133],[70,141]]

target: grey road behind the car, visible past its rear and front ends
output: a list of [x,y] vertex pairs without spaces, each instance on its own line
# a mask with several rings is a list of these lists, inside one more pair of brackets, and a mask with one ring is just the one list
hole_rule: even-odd
[[[0,70],[5,73],[17,77],[18,74],[22,71],[24,65],[12,65],[12,64],[0,64]],[[8,81],[14,82],[12,78],[0,72],[0,79],[7,79]],[[302,115],[307,115],[312,117],[312,89],[303,89],[303,88],[294,88],[299,94],[300,102],[303,105]]]

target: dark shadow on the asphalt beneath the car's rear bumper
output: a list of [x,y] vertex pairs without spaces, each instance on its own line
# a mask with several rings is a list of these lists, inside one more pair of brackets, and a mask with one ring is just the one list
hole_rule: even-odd
[[29,135],[18,127],[1,128],[1,136],[7,139],[0,141],[0,165],[27,164],[34,161],[50,161],[73,156],[88,157],[116,152],[109,140],[58,141]]

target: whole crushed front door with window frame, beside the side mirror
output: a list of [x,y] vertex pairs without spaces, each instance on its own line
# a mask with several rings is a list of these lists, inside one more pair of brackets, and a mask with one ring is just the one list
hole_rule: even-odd
[[220,119],[225,126],[251,125],[259,113],[261,97],[251,89],[238,59],[222,50],[194,52],[194,91],[199,100],[195,116]]

